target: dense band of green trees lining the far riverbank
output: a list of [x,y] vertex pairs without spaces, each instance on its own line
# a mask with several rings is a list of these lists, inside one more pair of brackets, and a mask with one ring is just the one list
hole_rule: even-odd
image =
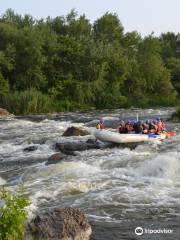
[[116,14],[93,24],[73,10],[0,18],[0,104],[16,114],[175,105],[180,34],[124,33]]

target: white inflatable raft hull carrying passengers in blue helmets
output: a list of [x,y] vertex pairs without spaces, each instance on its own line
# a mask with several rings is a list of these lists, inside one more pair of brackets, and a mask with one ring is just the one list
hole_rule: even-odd
[[139,143],[139,142],[156,142],[166,138],[165,134],[120,134],[109,130],[95,130],[94,136],[103,142],[113,143]]

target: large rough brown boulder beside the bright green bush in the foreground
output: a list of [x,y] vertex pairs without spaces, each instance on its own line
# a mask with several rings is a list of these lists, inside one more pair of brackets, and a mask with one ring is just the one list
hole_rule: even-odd
[[78,209],[54,209],[36,216],[27,224],[25,239],[89,240],[92,229]]

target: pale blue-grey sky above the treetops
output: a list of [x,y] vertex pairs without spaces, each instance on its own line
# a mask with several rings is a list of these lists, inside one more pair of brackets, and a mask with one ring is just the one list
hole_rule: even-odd
[[125,32],[142,36],[180,32],[180,0],[0,0],[0,15],[8,8],[36,19],[66,16],[71,9],[93,23],[106,12],[116,13]]

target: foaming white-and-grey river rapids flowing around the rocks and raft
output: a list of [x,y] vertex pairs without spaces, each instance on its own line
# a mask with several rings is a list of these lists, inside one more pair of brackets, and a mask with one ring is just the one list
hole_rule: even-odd
[[[83,210],[94,240],[180,239],[180,124],[168,121],[172,108],[114,110],[0,121],[0,185],[14,191],[23,184],[30,197],[30,216],[55,206]],[[45,165],[56,142],[86,140],[62,137],[72,125],[92,127],[103,116],[107,126],[119,119],[161,116],[176,136],[135,149],[116,147],[77,152],[55,165]],[[28,146],[37,150],[25,152]],[[172,234],[137,236],[138,226],[172,229]]]

